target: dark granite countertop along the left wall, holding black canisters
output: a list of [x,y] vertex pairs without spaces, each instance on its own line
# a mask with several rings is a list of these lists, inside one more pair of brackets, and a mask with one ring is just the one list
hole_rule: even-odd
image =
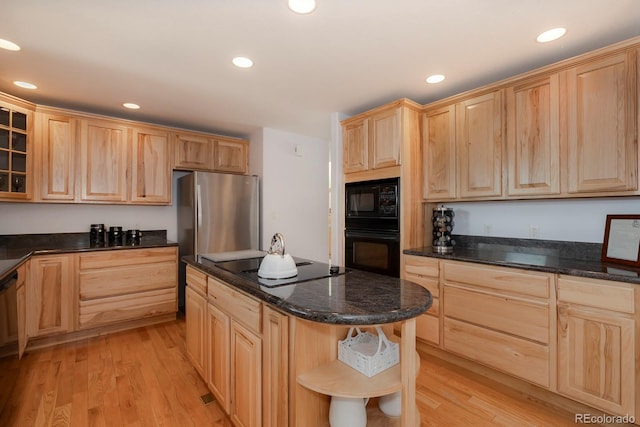
[[178,246],[178,244],[167,240],[166,230],[143,230],[140,244],[135,246],[91,245],[89,233],[0,235],[0,280],[15,271],[32,255],[167,246]]

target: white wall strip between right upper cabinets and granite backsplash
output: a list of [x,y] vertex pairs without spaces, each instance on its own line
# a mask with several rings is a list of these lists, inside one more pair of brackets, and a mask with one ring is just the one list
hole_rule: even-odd
[[[591,243],[602,243],[607,214],[640,214],[640,197],[444,205],[453,208],[454,234]],[[530,235],[531,226],[537,227],[537,237]]]

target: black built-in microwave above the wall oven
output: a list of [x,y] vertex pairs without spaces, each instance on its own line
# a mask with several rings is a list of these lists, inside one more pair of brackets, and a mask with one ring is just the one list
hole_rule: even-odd
[[398,178],[345,184],[345,227],[399,230]]

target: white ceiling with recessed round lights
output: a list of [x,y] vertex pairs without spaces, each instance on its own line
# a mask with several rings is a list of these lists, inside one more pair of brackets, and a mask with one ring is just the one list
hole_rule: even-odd
[[[565,37],[536,43],[558,26]],[[2,0],[0,38],[22,50],[0,49],[0,91],[232,136],[328,139],[333,112],[424,104],[638,35],[639,0],[318,0],[309,15],[286,0]],[[254,67],[235,68],[237,55]],[[434,73],[447,78],[424,83]]]

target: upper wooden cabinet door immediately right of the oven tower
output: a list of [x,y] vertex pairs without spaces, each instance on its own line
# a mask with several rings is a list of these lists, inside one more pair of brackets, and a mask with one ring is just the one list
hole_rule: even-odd
[[456,197],[455,120],[454,105],[422,115],[422,190],[425,200],[441,201]]

